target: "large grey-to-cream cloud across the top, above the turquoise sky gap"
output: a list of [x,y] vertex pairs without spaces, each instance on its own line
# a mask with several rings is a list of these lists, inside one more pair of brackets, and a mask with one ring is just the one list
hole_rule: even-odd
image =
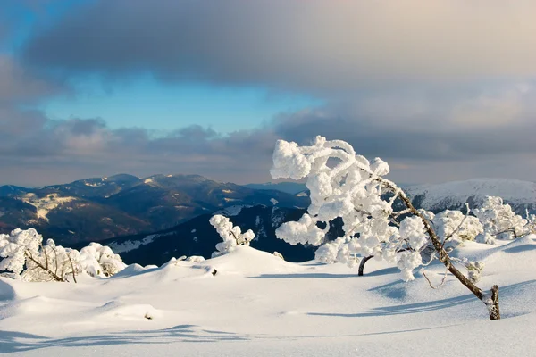
[[101,0],[77,9],[36,30],[29,62],[315,93],[536,74],[531,0]]

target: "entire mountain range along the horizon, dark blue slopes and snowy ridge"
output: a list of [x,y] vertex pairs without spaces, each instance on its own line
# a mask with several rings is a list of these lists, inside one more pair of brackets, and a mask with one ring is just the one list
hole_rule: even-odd
[[[433,212],[465,203],[474,208],[485,195],[503,197],[519,214],[536,212],[536,183],[528,181],[469,179],[405,190],[417,208]],[[275,237],[275,229],[301,217],[308,204],[299,183],[239,186],[197,175],[121,174],[48,187],[0,187],[0,233],[32,227],[63,245],[99,241],[125,262],[162,264],[173,256],[209,257],[221,238],[208,220],[220,212],[255,232],[255,248],[300,262],[314,257],[313,247],[288,245]],[[330,237],[339,235],[335,223]]]

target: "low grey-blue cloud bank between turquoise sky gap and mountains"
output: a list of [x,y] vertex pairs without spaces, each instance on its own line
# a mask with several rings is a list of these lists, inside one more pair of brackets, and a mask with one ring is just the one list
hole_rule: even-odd
[[[463,126],[459,124],[463,118],[460,100],[418,105],[400,101],[400,107],[384,102],[389,112],[405,117],[403,111],[408,111],[414,120],[397,121],[386,112],[368,112],[372,102],[381,102],[374,97],[352,105],[328,104],[282,113],[263,127],[223,135],[200,126],[166,134],[110,129],[99,119],[54,121],[41,112],[13,110],[11,115],[0,114],[0,132],[16,133],[0,140],[0,165],[4,182],[20,185],[119,172],[142,177],[197,173],[221,181],[262,182],[270,180],[272,149],[278,138],[307,144],[322,135],[346,140],[369,158],[382,157],[392,166],[391,178],[403,183],[473,177],[532,180],[536,175],[536,90],[513,85],[465,98],[462,106],[471,108],[470,112],[485,112],[489,104],[482,98],[486,95],[493,95],[494,107],[515,103],[515,111],[509,111],[514,116],[493,120],[488,126]],[[20,128],[25,130],[17,131]]]

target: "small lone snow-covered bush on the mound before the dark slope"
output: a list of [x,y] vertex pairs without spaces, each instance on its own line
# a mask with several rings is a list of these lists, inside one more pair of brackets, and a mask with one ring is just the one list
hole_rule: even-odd
[[238,226],[233,227],[229,218],[221,214],[215,214],[209,222],[223,239],[223,242],[216,245],[216,252],[212,254],[213,258],[229,253],[237,245],[249,245],[249,242],[255,238],[255,234],[251,229],[242,233],[242,230]]

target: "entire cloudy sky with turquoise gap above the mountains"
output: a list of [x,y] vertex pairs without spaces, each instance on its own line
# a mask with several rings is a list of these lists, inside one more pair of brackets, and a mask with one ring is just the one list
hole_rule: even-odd
[[399,183],[536,180],[532,0],[0,0],[0,185],[270,178],[343,139]]

